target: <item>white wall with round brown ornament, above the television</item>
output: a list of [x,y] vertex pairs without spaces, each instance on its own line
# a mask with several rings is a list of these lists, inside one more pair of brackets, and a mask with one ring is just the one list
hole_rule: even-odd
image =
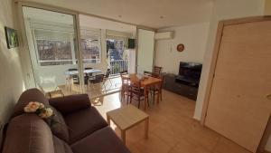
[[[203,62],[209,23],[191,24],[159,29],[158,32],[173,31],[173,39],[156,41],[155,65],[162,66],[163,72],[179,72],[179,63]],[[185,49],[177,52],[176,46],[183,43]]]

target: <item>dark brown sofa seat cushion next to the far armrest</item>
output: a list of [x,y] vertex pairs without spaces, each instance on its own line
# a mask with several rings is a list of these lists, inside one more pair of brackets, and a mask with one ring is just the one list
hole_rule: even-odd
[[70,144],[107,126],[106,120],[94,107],[71,113],[64,116],[64,119],[70,128]]

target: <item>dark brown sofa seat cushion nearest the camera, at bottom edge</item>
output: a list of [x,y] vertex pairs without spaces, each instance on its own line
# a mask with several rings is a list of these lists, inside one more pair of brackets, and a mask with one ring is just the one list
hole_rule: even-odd
[[99,129],[93,134],[71,145],[74,153],[129,153],[130,151],[109,128]]

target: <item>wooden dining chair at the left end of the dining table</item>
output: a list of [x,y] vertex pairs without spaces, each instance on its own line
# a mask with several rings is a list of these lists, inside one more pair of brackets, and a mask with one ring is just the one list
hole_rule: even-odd
[[131,98],[130,97],[131,81],[129,78],[124,77],[123,74],[120,74],[120,78],[121,78],[120,100],[122,101],[123,99],[125,99],[125,97],[127,97],[126,103],[128,103],[129,98]]

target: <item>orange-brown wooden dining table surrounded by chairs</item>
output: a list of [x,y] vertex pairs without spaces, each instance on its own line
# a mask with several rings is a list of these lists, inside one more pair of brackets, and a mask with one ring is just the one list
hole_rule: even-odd
[[[152,76],[144,75],[144,74],[129,73],[129,74],[123,75],[123,77],[129,79],[131,83],[140,81],[141,87],[144,88],[145,97],[147,97],[148,90],[150,87],[159,85],[160,83],[162,83],[162,79],[154,78]],[[158,97],[157,103],[159,103],[160,92],[158,92],[157,97]],[[144,103],[145,103],[144,110],[146,110],[147,99],[144,99]]]

